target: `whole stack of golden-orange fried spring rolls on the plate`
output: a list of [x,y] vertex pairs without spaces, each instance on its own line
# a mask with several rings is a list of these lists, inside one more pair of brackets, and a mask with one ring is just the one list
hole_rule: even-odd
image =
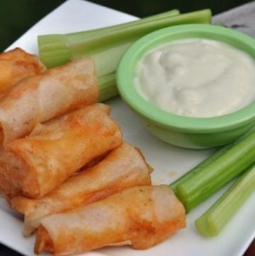
[[0,190],[24,215],[23,235],[35,233],[35,253],[146,249],[186,225],[97,99],[89,58],[46,70],[18,48],[0,55]]

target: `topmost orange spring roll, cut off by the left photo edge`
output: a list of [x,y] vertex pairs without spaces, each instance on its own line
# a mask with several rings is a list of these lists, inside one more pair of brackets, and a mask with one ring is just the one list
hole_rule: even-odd
[[39,58],[15,48],[0,54],[0,95],[26,77],[45,72]]

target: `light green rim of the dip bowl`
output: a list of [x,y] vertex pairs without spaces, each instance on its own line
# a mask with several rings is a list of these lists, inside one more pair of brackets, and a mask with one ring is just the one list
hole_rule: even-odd
[[[175,36],[188,38],[187,35],[191,33],[195,36],[189,36],[190,38],[211,38],[212,40],[222,40],[222,38],[227,38],[227,40],[231,39],[233,42],[242,45],[242,48],[235,46],[236,48],[240,50],[249,48],[253,54],[252,57],[255,59],[254,38],[237,30],[210,24],[186,24],[162,28],[140,38],[123,54],[116,72],[117,87],[122,99],[126,101],[134,111],[139,113],[140,116],[149,119],[152,123],[164,128],[182,130],[189,133],[219,132],[229,130],[229,128],[238,128],[253,120],[255,121],[255,101],[238,111],[223,116],[196,118],[178,116],[174,113],[163,111],[143,99],[137,92],[132,81],[137,60],[139,60],[145,52],[148,52],[148,48],[153,49],[161,44],[163,45],[163,43],[160,43],[162,40]],[[203,36],[198,36],[197,34],[199,33],[202,33]],[[232,45],[232,43],[229,44]],[[152,47],[152,45],[154,45],[154,47]],[[246,50],[244,51],[247,52]]]

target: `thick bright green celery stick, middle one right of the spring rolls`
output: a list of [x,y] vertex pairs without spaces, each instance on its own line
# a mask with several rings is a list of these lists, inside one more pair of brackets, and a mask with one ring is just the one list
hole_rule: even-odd
[[255,162],[255,131],[176,187],[176,196],[186,212],[208,199]]

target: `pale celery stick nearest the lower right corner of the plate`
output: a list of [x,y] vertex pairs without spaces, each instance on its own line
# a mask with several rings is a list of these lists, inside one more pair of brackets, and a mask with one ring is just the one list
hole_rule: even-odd
[[248,196],[255,191],[255,165],[237,179],[203,216],[195,221],[197,230],[206,236],[220,233]]

